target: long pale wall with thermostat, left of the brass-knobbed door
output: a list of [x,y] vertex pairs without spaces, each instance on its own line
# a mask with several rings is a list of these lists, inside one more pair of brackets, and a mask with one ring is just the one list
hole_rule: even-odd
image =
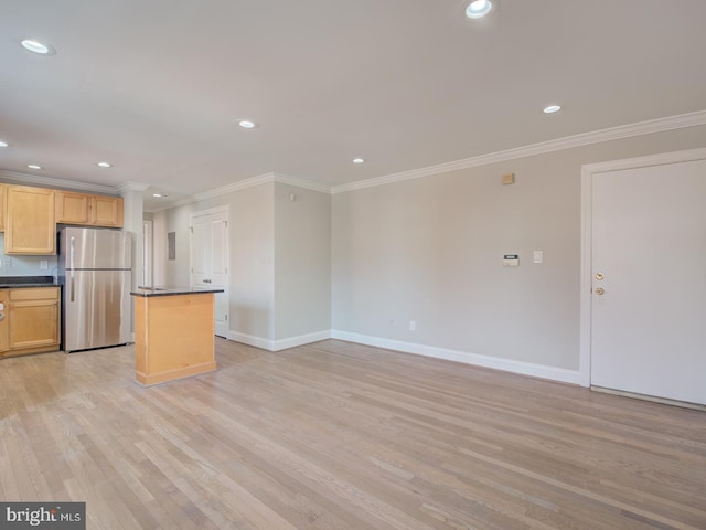
[[581,166],[705,146],[692,127],[334,194],[333,335],[577,380]]

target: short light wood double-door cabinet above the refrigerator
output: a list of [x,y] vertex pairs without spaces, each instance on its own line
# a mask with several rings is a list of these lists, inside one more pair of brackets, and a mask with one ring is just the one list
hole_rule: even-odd
[[122,198],[56,190],[56,222],[122,226]]

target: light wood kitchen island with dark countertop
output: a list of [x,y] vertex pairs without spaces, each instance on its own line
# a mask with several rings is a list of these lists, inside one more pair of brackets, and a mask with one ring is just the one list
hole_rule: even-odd
[[135,371],[149,386],[216,369],[214,294],[201,287],[138,287],[135,297]]

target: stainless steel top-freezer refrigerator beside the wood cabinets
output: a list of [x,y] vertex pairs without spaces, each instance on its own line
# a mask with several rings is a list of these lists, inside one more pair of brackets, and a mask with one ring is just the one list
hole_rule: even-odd
[[130,341],[132,235],[108,229],[62,229],[58,280],[62,346],[79,351]]

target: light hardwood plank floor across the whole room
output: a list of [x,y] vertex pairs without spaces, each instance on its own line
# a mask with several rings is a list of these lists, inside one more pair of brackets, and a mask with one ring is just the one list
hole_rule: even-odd
[[95,529],[706,528],[706,413],[327,340],[0,361],[0,499]]

